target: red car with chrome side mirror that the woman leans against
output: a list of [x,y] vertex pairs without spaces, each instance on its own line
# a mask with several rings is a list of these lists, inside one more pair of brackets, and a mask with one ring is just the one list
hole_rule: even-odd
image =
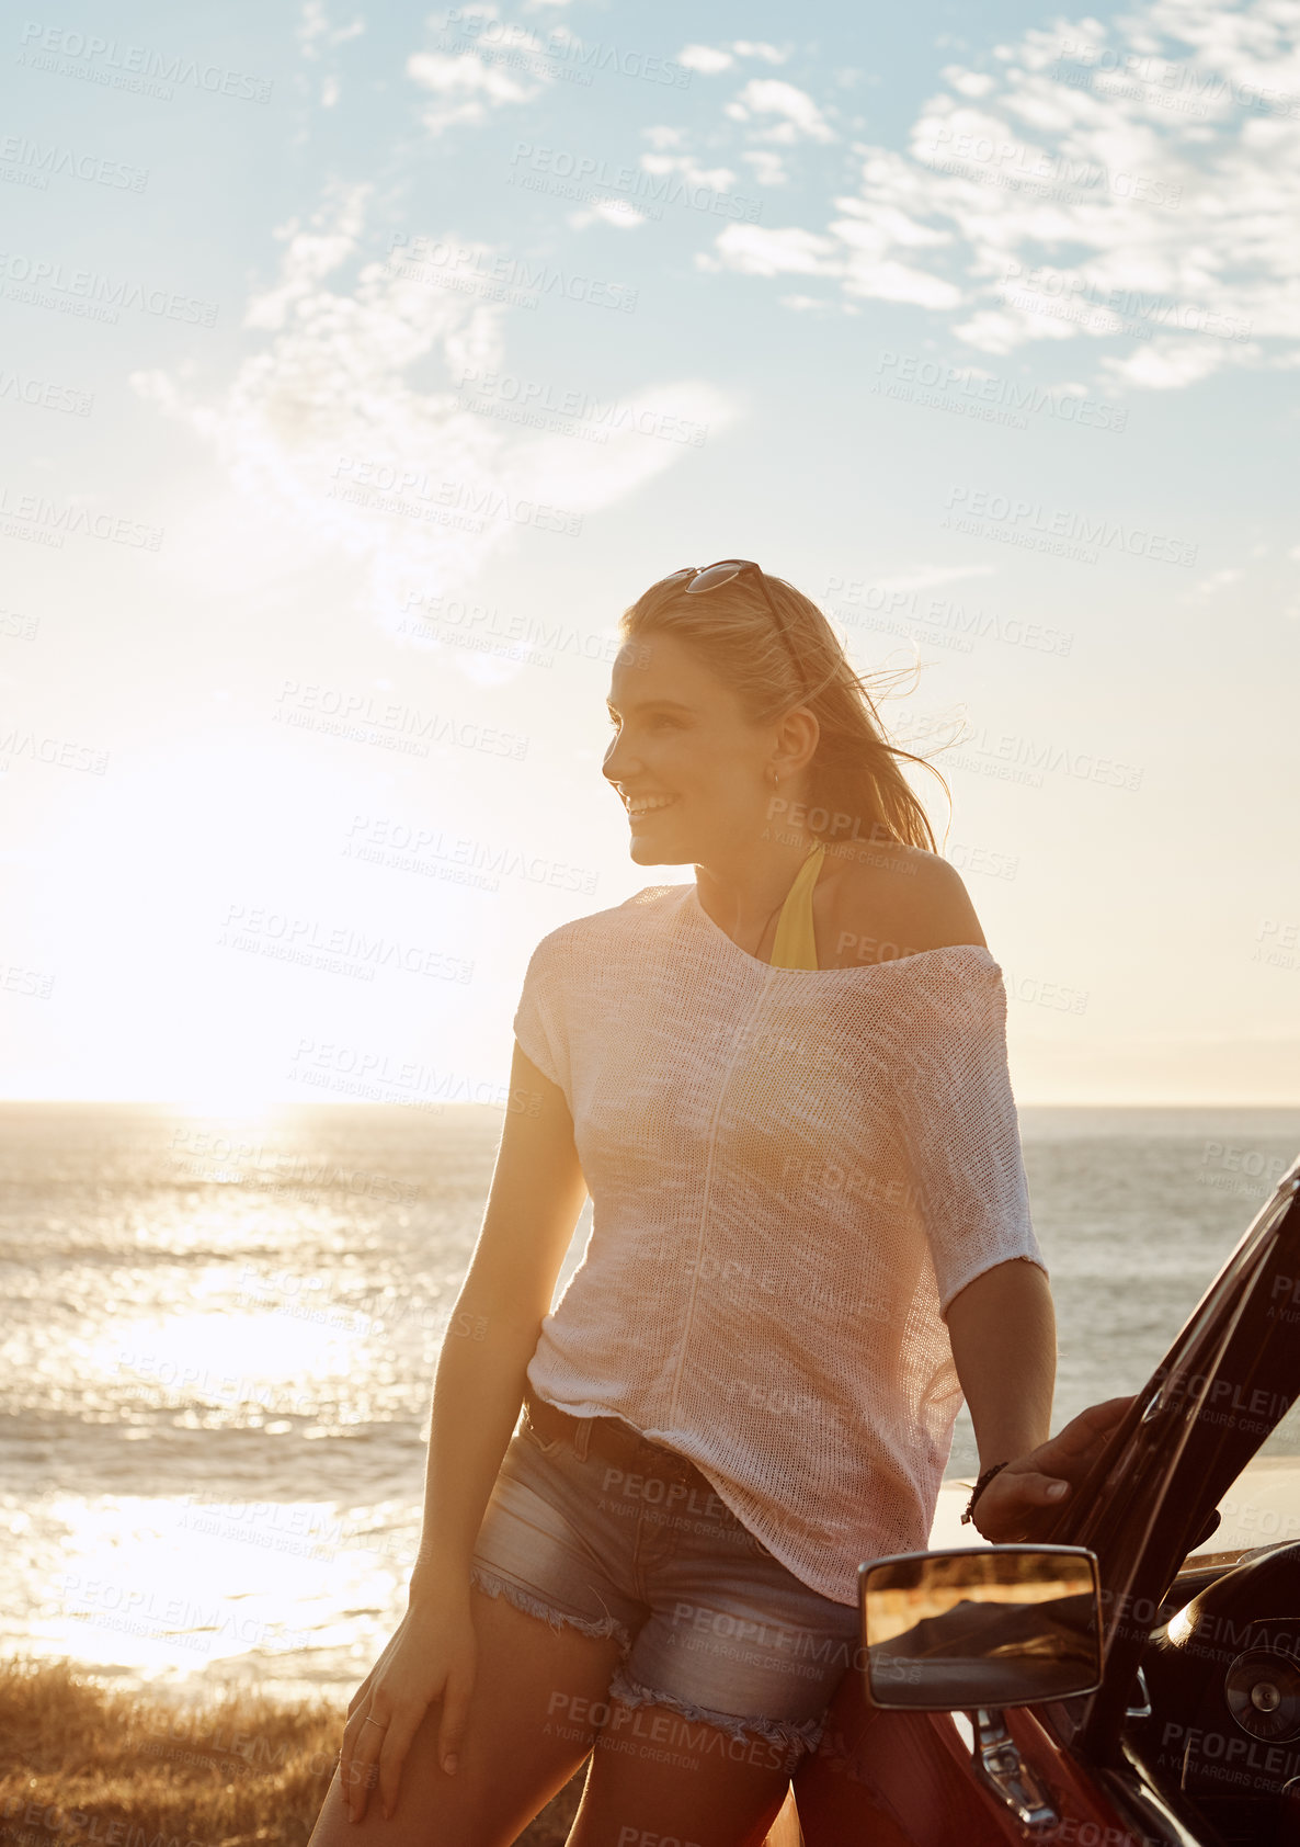
[[805,1847],[1300,1847],[1300,1542],[1189,1559],[1300,1396],[1298,1195],[1300,1160],[1041,1546],[861,1566]]

